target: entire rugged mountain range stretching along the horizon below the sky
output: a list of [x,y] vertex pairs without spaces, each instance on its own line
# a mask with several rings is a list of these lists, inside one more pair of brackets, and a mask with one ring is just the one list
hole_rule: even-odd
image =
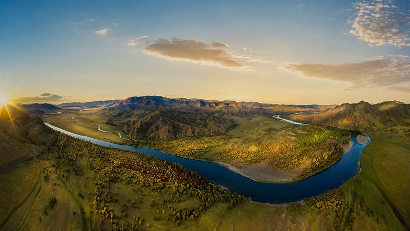
[[[238,118],[255,116],[285,117],[310,124],[352,130],[378,130],[408,123],[410,104],[365,101],[341,105],[281,105],[233,100],[134,96],[123,100],[62,103],[59,107],[100,108],[95,113],[108,118],[134,140],[172,140],[191,136],[213,136],[228,132],[239,124]],[[27,109],[59,108],[51,104],[22,105]]]

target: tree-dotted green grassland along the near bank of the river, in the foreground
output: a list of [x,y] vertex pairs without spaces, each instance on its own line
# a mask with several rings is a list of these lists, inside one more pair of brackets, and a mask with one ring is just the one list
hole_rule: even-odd
[[13,182],[0,190],[0,198],[8,198],[0,199],[5,209],[0,229],[400,230],[390,203],[408,219],[408,188],[376,177],[407,173],[408,149],[403,147],[407,162],[399,172],[380,172],[386,160],[372,150],[384,144],[375,139],[363,153],[361,172],[341,188],[303,203],[269,206],[215,187],[178,165],[62,136],[55,148],[0,174],[1,182]]

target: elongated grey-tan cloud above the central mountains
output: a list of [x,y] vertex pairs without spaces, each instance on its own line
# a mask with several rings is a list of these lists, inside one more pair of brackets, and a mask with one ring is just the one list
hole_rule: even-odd
[[210,48],[210,45],[193,39],[159,39],[148,45],[143,52],[168,59],[217,64],[229,68],[244,67],[243,64],[232,59],[230,51]]

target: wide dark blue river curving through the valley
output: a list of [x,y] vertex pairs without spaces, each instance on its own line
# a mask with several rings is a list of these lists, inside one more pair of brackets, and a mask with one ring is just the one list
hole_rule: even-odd
[[[357,135],[359,135],[359,133],[351,131],[352,136],[350,139],[351,142],[353,142],[352,148],[348,152],[343,154],[340,160],[330,168],[305,180],[297,182],[265,183],[252,180],[218,163],[183,158],[175,155],[170,155],[152,148],[114,144],[107,141],[101,141],[94,138],[70,133],[48,123],[44,124],[54,130],[78,139],[90,141],[94,144],[139,152],[167,160],[169,162],[177,162],[183,165],[185,168],[205,176],[218,185],[228,188],[233,192],[238,192],[246,197],[251,197],[252,201],[270,204],[282,204],[301,201],[306,197],[316,196],[339,187],[342,182],[349,180],[359,171],[360,156],[363,152],[363,149],[367,145],[359,144],[356,140],[356,137]],[[367,141],[369,142],[369,138],[367,138]]]

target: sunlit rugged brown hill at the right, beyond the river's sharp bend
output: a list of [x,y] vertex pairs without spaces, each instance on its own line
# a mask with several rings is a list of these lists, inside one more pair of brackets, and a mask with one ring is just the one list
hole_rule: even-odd
[[406,123],[410,119],[410,104],[386,101],[377,104],[360,101],[343,103],[317,114],[288,116],[293,120],[353,130],[379,130]]

